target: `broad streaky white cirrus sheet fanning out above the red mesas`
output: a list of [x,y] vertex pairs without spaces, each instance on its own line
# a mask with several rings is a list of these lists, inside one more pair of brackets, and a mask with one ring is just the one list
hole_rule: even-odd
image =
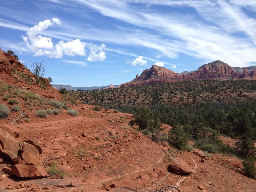
[[[228,1],[76,1],[79,4],[90,6],[102,15],[112,17],[116,20],[155,30],[159,36],[156,43],[147,41],[143,37],[135,36],[132,41],[142,46],[154,48],[164,55],[175,58],[179,53],[200,58],[207,61],[220,59],[229,61],[231,65],[246,66],[249,62],[256,60],[252,52],[256,51],[255,34],[253,31],[254,18],[244,14],[241,7],[232,5]],[[136,10],[131,3],[142,3],[148,5],[148,10]],[[183,6],[193,7],[201,20],[195,19],[194,14],[159,13],[150,9],[150,5]],[[235,14],[237,13],[237,14]],[[219,16],[218,16],[219,15]],[[217,17],[217,19],[216,19]],[[211,19],[212,18],[212,19]],[[242,20],[245,20],[243,24]],[[206,21],[206,22],[205,22]],[[249,25],[246,25],[250,23]],[[233,33],[243,32],[250,36],[248,40]],[[169,46],[162,43],[172,40]],[[169,40],[168,40],[169,39]],[[160,43],[161,42],[161,43]],[[170,50],[169,47],[173,47]],[[169,50],[169,52],[166,52]],[[249,54],[248,54],[249,53]],[[251,55],[251,56],[250,56]],[[248,56],[248,57],[244,57]],[[241,59],[243,57],[243,60]]]

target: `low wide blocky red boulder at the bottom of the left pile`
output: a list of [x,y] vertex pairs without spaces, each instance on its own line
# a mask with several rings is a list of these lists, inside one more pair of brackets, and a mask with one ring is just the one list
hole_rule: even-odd
[[41,165],[24,165],[17,164],[12,168],[12,174],[21,178],[42,178],[48,174]]

